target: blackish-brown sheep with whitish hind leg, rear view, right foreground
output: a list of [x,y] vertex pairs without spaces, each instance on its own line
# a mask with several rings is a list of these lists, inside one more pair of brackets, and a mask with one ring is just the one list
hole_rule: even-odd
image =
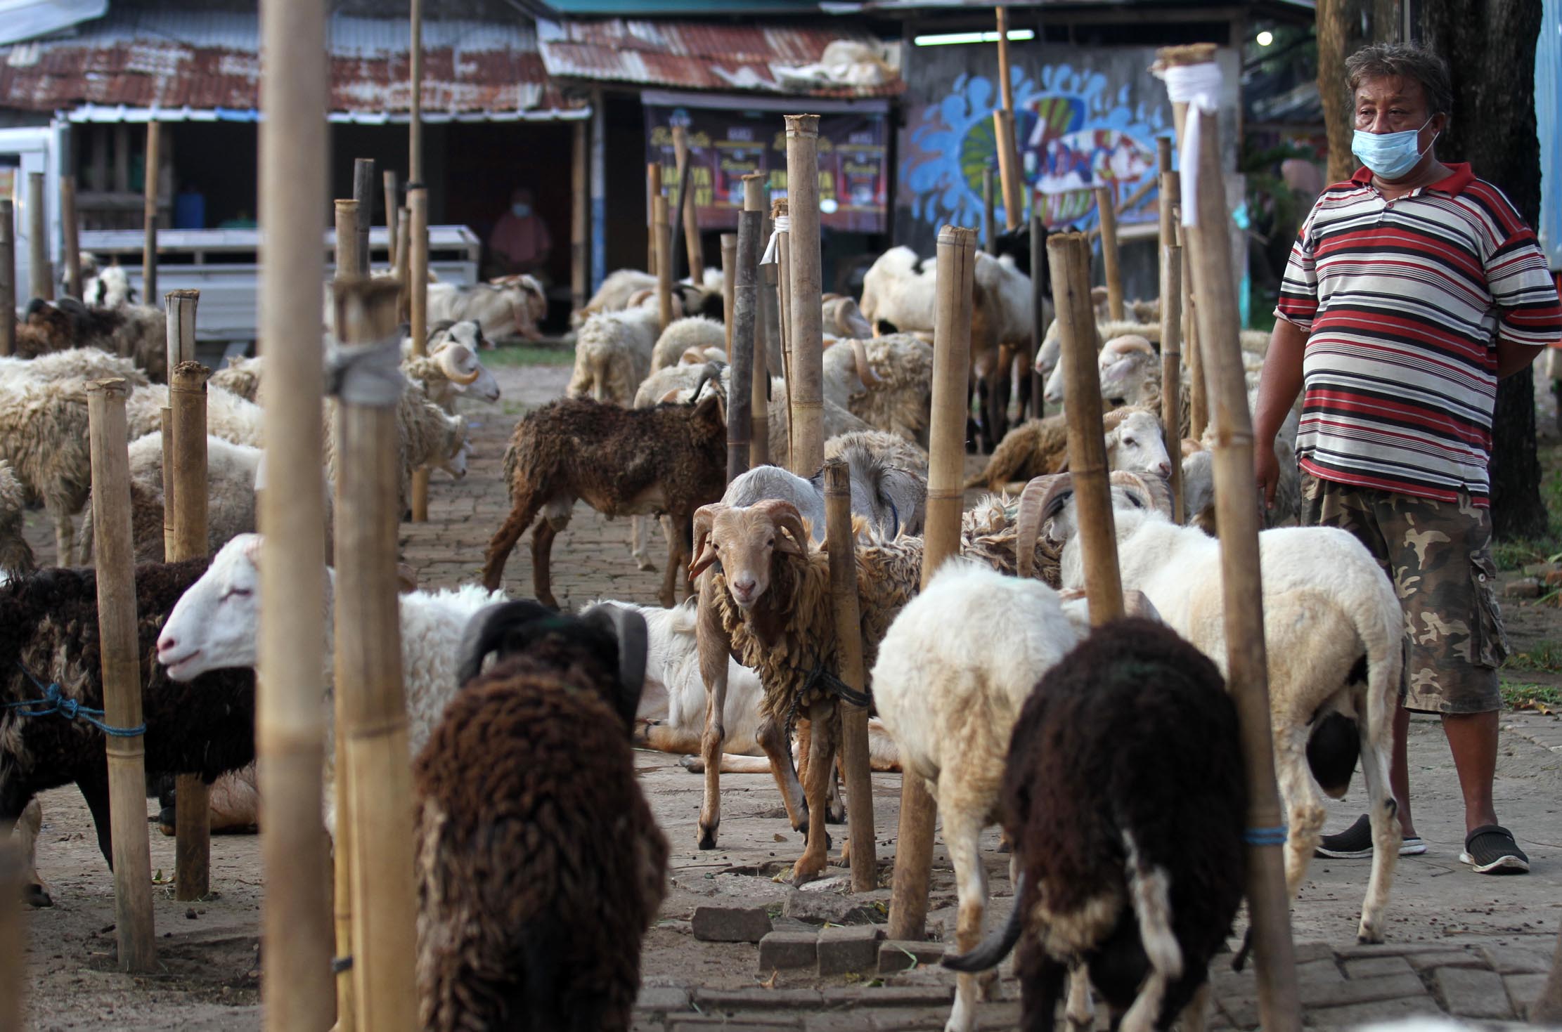
[[1014,909],[943,960],[992,968],[1023,937],[1023,1027],[1053,1027],[1065,974],[1070,1027],[1093,1026],[1092,984],[1120,1032],[1204,1027],[1209,962],[1243,891],[1246,782],[1223,689],[1175,632],[1120,620],[1025,701],[1000,796]]

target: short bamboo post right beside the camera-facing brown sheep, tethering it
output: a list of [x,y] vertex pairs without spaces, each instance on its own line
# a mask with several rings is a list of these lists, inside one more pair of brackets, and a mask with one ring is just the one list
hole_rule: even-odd
[[[858,610],[858,557],[851,540],[851,468],[825,459],[825,540],[829,548],[829,593],[836,610],[842,682],[867,690],[862,668],[862,615]],[[840,756],[847,768],[847,840],[851,843],[851,891],[878,888],[873,834],[873,771],[868,768],[868,710],[845,699],[840,707]]]

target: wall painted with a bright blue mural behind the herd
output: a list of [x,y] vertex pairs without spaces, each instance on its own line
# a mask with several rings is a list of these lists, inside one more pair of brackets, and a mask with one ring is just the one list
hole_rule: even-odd
[[[1165,86],[1148,70],[1154,48],[1011,44],[1009,56],[1025,217],[1034,208],[1050,230],[1090,228],[1093,190],[1106,186],[1118,206],[1129,201],[1120,226],[1156,222],[1156,137],[1173,122]],[[1236,52],[1221,50],[1218,64],[1221,150],[1236,169]],[[931,254],[940,225],[981,226],[982,169],[997,169],[998,55],[993,45],[908,47],[904,66],[895,242]]]

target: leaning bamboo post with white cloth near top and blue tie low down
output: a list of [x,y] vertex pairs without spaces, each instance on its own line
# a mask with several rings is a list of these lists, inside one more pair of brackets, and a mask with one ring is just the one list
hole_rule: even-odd
[[[1275,785],[1270,738],[1268,659],[1264,645],[1264,585],[1259,576],[1259,509],[1254,504],[1253,418],[1237,340],[1237,297],[1231,278],[1231,233],[1220,172],[1220,125],[1214,112],[1198,119],[1196,211],[1184,212],[1193,251],[1193,289],[1200,298],[1200,339],[1209,343],[1215,387],[1215,523],[1226,628],[1228,687],[1237,703],[1242,756],[1248,776],[1248,827],[1284,823]],[[1193,175],[1184,167],[1182,175]],[[1301,1007],[1290,938],[1286,865],[1279,843],[1248,845],[1248,907],[1257,957],[1259,1015],[1268,1032],[1296,1032]]]

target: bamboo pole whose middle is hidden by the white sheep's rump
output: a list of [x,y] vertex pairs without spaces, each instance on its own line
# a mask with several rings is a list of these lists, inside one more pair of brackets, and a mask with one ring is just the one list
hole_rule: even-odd
[[[939,231],[937,308],[933,322],[933,418],[928,428],[928,515],[922,553],[922,587],[961,548],[965,504],[965,384],[970,378],[972,289],[976,233],[958,226]],[[928,920],[928,874],[933,868],[936,807],[922,778],[903,778],[895,884],[889,904],[890,938],[923,938]]]

